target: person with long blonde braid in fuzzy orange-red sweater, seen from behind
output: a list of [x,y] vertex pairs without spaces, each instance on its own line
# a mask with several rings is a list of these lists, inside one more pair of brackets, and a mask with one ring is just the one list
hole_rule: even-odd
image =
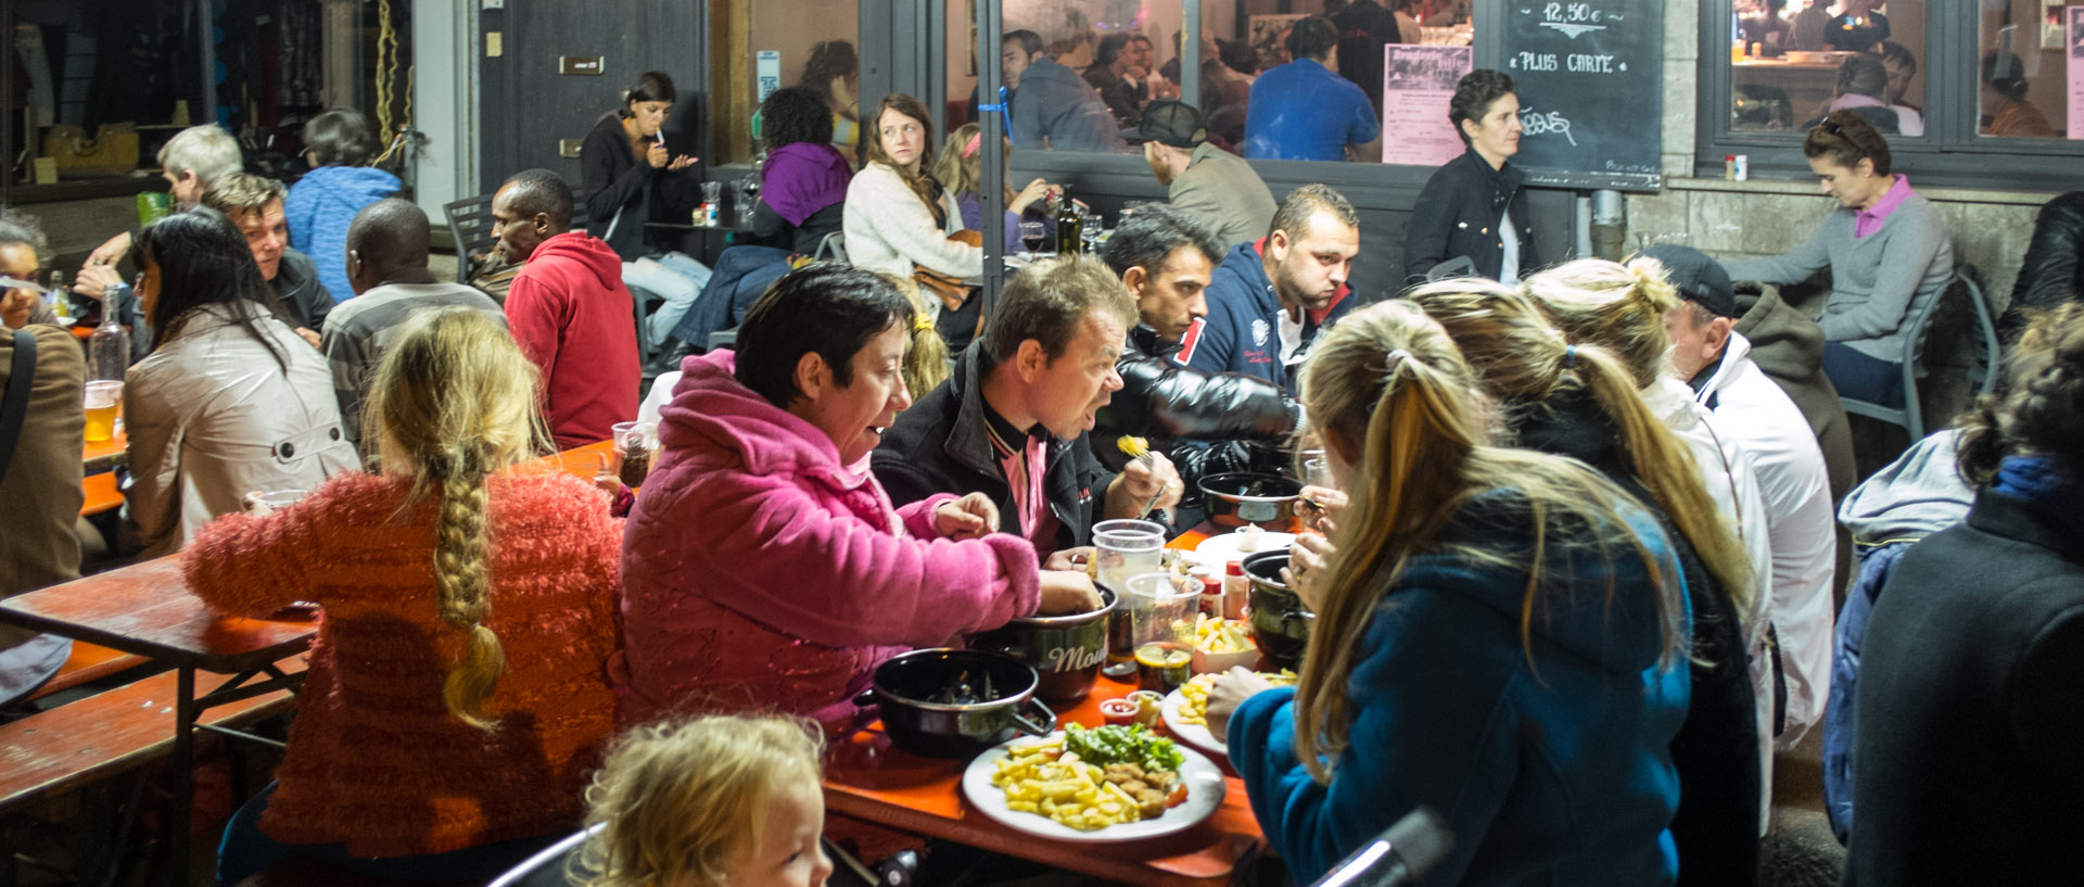
[[202,529],[190,589],[227,614],[325,608],[275,785],[225,829],[219,881],[290,856],[486,881],[581,816],[615,720],[621,521],[519,468],[538,375],[475,310],[417,319],[363,410],[381,475]]

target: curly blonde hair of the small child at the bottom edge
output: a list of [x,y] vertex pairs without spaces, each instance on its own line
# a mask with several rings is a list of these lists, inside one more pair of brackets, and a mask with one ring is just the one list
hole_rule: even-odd
[[817,781],[823,739],[786,716],[715,714],[623,735],[586,789],[586,825],[604,822],[575,862],[586,887],[721,887],[740,847],[759,845],[761,810],[792,779]]

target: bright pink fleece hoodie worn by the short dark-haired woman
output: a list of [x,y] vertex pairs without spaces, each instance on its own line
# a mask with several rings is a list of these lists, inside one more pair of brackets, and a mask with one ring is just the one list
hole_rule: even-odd
[[832,439],[731,377],[729,350],[688,358],[663,452],[623,533],[619,720],[694,710],[859,725],[877,662],[994,629],[1040,604],[1034,548],[950,541],[934,508],[890,508]]

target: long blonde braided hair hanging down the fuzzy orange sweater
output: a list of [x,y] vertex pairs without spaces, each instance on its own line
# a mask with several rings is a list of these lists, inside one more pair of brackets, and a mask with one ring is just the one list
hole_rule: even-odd
[[442,702],[458,720],[492,729],[483,704],[506,670],[486,627],[492,610],[486,475],[534,456],[540,373],[513,337],[471,308],[421,314],[383,356],[363,412],[386,475],[411,475],[404,510],[440,496],[433,579],[440,618],[469,633],[448,668]]

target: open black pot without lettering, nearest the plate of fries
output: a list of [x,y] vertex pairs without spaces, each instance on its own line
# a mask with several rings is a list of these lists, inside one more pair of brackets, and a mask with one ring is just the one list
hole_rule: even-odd
[[[1034,700],[1036,670],[990,650],[913,650],[875,666],[869,695],[884,733],[929,758],[971,758],[1015,731],[1048,735],[1057,712]],[[952,702],[950,702],[952,700]]]

